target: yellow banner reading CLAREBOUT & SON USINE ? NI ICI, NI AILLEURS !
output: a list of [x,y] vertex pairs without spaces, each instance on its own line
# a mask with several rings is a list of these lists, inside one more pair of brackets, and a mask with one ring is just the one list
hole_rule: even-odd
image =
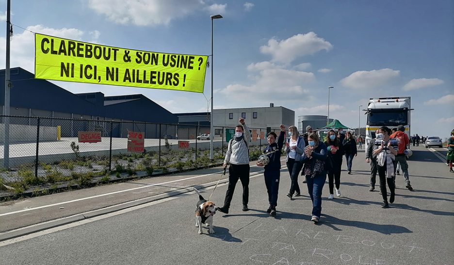
[[203,93],[207,60],[35,34],[36,79]]

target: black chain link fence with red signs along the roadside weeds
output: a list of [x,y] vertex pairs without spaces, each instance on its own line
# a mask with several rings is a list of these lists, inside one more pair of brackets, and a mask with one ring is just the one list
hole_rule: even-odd
[[[5,123],[9,155],[4,161]],[[234,128],[29,116],[0,116],[0,189],[22,193],[32,186],[84,186],[133,175],[219,165]],[[270,129],[250,128],[251,160]],[[278,133],[279,130],[274,130]],[[7,165],[5,165],[5,162]],[[96,179],[96,180],[94,180]]]

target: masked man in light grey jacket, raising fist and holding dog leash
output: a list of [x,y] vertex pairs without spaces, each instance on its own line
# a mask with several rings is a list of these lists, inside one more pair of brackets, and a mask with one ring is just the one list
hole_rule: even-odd
[[224,168],[228,166],[228,187],[224,206],[218,210],[228,214],[230,202],[232,201],[235,186],[240,179],[243,185],[243,212],[249,211],[247,203],[249,201],[249,142],[251,132],[247,128],[243,118],[240,118],[240,124],[235,127],[235,136],[228,142],[226,158],[224,159]]

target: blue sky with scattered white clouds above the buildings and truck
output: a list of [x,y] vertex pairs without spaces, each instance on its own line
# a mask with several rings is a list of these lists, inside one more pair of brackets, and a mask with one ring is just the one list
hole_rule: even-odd
[[[2,21],[5,10],[0,0]],[[454,128],[452,0],[21,0],[12,1],[11,22],[109,46],[209,55],[214,14],[224,17],[214,21],[214,108],[273,102],[295,120],[327,115],[332,85],[330,117],[347,126],[358,126],[358,105],[371,97],[411,96],[412,133],[444,138]],[[33,72],[33,34],[19,27],[11,66]],[[0,41],[4,68],[4,30]],[[211,69],[203,95],[54,83],[73,93],[140,93],[171,112],[195,112],[207,110]]]

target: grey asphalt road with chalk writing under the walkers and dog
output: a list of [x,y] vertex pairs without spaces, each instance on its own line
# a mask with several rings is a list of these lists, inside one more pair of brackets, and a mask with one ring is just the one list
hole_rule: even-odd
[[[291,201],[285,196],[290,180],[282,169],[276,217],[265,212],[263,176],[257,175],[250,182],[251,210],[241,211],[238,184],[230,214],[214,216],[215,234],[206,228],[197,234],[198,198],[191,192],[16,243],[0,242],[0,264],[454,264],[454,174],[446,164],[430,150],[414,148],[408,162],[414,191],[397,176],[396,200],[382,209],[378,191],[369,192],[364,153],[353,163],[352,175],[342,172],[340,198],[326,199],[324,186],[317,225],[310,222],[311,202],[301,181],[303,197]],[[226,189],[221,185],[214,191],[216,205],[222,206]],[[202,194],[208,198],[211,191]]]

